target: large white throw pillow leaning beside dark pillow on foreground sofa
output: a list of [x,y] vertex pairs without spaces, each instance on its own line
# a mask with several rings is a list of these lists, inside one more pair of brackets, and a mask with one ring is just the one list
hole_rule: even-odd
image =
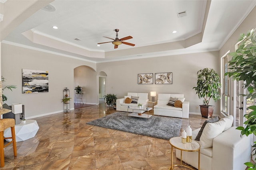
[[212,147],[212,140],[220,135],[226,126],[225,121],[217,121],[215,123],[207,123],[204,127],[199,144],[201,148]]

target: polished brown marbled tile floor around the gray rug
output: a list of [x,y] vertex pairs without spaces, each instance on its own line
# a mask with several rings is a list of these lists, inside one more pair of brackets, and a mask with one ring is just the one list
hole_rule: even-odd
[[[66,115],[57,113],[35,118],[40,127],[38,133],[32,139],[17,142],[16,158],[12,145],[6,147],[5,166],[1,169],[168,170],[169,141],[86,125],[115,111],[99,104],[75,109]],[[190,115],[189,119],[182,120],[182,128],[188,124],[192,130],[199,128],[205,120],[201,115]]]

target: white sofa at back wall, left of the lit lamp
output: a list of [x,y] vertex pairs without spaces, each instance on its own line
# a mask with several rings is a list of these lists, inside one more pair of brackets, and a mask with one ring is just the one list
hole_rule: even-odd
[[[148,93],[132,93],[132,92],[128,92],[127,96],[131,98],[131,96],[135,96],[135,97],[139,97],[138,100],[138,104],[142,104],[143,107],[148,107]],[[127,97],[125,96],[125,97]],[[116,111],[126,111],[128,109],[128,106],[130,107],[134,107],[134,106],[138,106],[138,104],[134,104],[134,103],[125,103],[125,98],[121,98],[121,99],[117,99],[116,100]],[[128,112],[135,112],[135,113],[143,113],[143,111],[141,110],[132,110],[132,109],[128,109]]]

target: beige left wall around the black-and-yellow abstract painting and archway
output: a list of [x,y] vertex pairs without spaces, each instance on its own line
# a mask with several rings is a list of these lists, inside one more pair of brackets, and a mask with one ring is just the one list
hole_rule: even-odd
[[[17,85],[13,92],[5,90],[6,103],[25,105],[26,117],[37,117],[63,111],[63,89],[70,89],[71,108],[74,108],[74,68],[80,65],[96,70],[96,64],[2,43],[2,76],[6,84]],[[49,92],[22,94],[22,68],[49,72]],[[90,70],[92,70],[90,69]],[[96,80],[94,82],[96,84]],[[4,86],[4,85],[3,85]],[[95,90],[96,92],[96,90]]]

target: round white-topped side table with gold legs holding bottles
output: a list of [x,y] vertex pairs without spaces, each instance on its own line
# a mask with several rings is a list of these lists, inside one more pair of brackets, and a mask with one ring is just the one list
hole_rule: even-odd
[[[196,142],[195,140],[192,140],[191,143],[182,143],[181,137],[173,137],[169,140],[170,145],[172,146],[172,166],[169,168],[169,170],[173,170],[174,166],[182,166],[186,167],[190,170],[193,170],[189,166],[182,165],[182,151],[188,151],[188,152],[196,152],[198,151],[198,170],[200,170],[200,144]],[[173,147],[180,150],[180,164],[173,164]]]

